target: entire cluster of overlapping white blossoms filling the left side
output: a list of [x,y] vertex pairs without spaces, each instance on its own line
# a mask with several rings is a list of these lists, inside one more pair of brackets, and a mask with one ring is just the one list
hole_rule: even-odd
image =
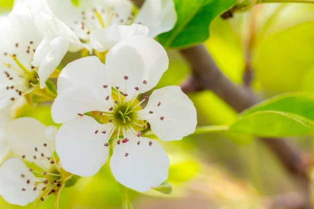
[[[168,0],[146,0],[140,9],[129,0],[15,2],[0,18],[0,157],[9,147],[15,153],[0,167],[5,200],[58,200],[71,177],[96,174],[108,158],[115,179],[136,191],[167,179],[169,158],[147,136],[180,140],[197,124],[180,87],[146,93],[169,65],[153,38],[175,23]],[[82,58],[64,61],[67,53]],[[59,130],[21,117],[41,102],[52,104]]]

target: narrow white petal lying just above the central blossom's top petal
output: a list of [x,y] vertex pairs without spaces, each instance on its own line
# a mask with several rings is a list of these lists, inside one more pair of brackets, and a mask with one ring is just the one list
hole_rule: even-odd
[[148,28],[142,25],[112,25],[93,31],[90,35],[90,43],[93,49],[99,52],[105,52],[122,40],[128,39],[134,35],[147,36],[147,34]]

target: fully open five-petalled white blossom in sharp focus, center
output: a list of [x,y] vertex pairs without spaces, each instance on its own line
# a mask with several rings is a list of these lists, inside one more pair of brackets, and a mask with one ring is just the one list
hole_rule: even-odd
[[133,36],[109,50],[105,65],[90,56],[62,70],[52,117],[64,123],[56,135],[64,169],[94,175],[116,142],[110,167],[121,184],[142,192],[167,179],[165,150],[141,134],[150,127],[161,140],[180,140],[195,130],[195,107],[178,86],[154,90],[149,99],[137,97],[159,82],[168,62],[158,42]]

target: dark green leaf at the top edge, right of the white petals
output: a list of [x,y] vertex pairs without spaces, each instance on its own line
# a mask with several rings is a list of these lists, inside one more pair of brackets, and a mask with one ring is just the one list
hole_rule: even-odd
[[174,0],[178,20],[173,30],[158,36],[165,48],[183,48],[209,38],[211,22],[237,0]]

